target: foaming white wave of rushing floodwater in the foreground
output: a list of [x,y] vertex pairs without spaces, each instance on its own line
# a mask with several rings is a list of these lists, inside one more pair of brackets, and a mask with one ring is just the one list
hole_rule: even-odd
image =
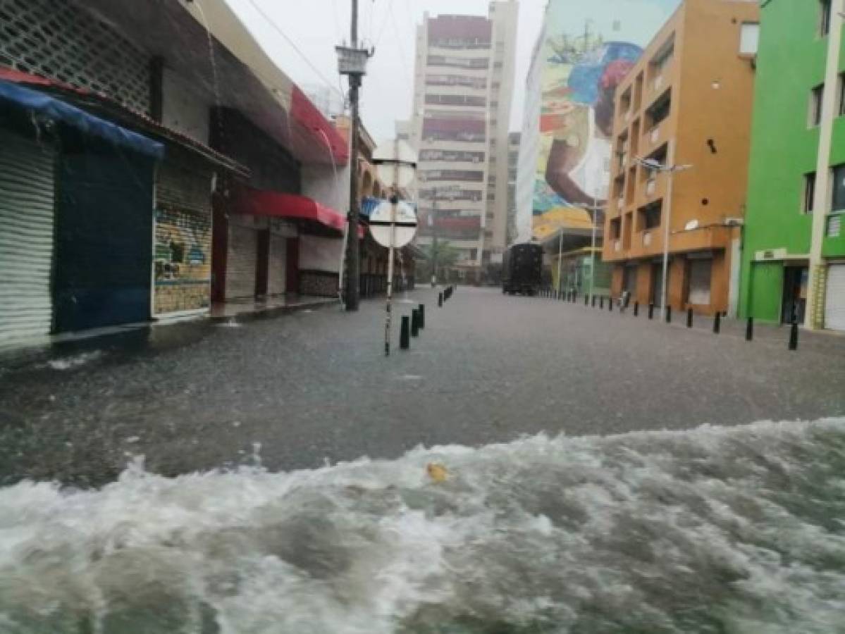
[[843,520],[845,420],[293,473],[138,461],[0,490],[0,631],[828,634]]

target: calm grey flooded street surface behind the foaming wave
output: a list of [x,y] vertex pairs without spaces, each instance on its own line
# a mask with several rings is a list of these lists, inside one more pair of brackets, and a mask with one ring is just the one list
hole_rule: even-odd
[[[188,322],[64,344],[0,366],[0,484],[99,485],[143,455],[160,474],[260,461],[303,469],[419,444],[845,414],[845,338],[461,287],[417,301],[412,350],[382,355],[384,304]],[[401,301],[401,298],[400,298]]]

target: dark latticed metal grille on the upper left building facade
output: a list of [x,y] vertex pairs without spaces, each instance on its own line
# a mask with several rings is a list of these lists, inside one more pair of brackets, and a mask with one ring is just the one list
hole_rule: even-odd
[[0,0],[0,64],[150,109],[148,58],[67,0]]

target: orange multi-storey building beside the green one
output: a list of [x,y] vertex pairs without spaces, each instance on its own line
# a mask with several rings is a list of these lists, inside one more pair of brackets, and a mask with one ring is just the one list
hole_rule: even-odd
[[755,2],[685,0],[619,84],[603,248],[614,296],[661,303],[668,218],[668,304],[735,312],[758,29]]

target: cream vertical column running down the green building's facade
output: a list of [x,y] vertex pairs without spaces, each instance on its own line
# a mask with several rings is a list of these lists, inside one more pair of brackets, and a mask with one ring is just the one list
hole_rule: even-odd
[[819,127],[819,154],[815,167],[815,198],[813,199],[813,228],[810,233],[810,279],[808,280],[807,328],[813,330],[825,325],[825,281],[824,262],[821,258],[821,243],[825,237],[827,213],[831,206],[831,144],[833,122],[836,119],[837,81],[839,78],[839,49],[842,46],[842,14],[845,0],[831,3],[831,30],[827,34],[827,62],[825,67],[825,89],[821,98],[821,122]]

